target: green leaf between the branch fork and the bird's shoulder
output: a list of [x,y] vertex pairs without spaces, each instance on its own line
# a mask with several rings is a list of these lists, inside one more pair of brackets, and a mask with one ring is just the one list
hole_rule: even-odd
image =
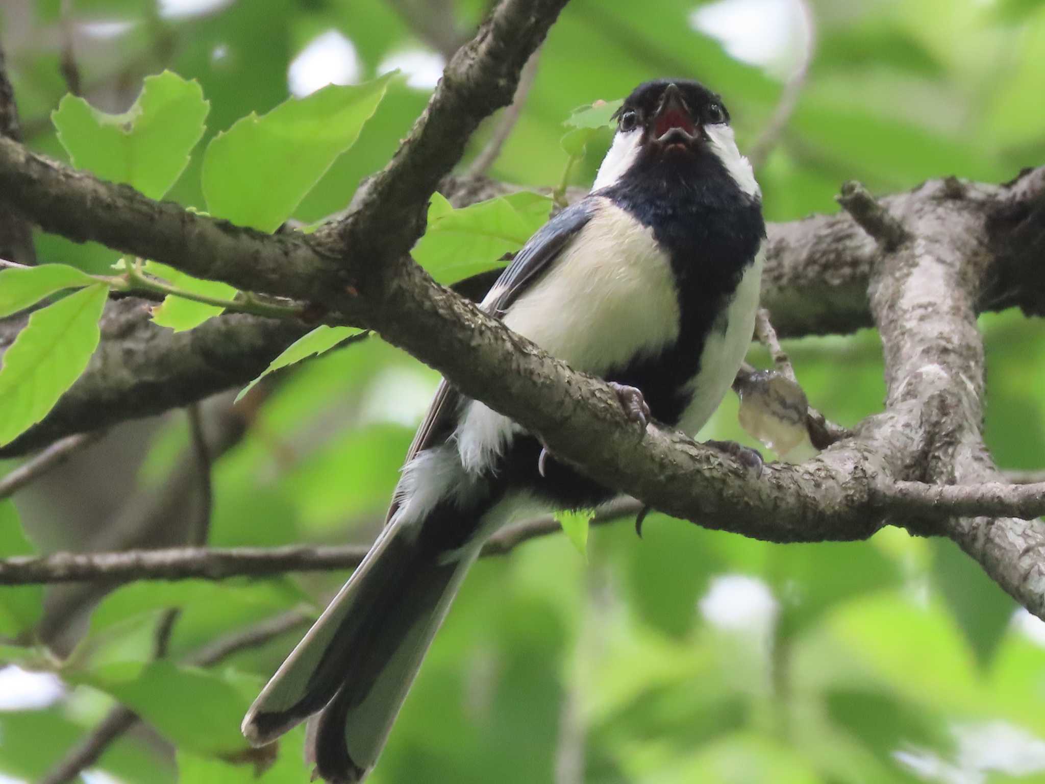
[[454,209],[439,193],[428,207],[428,227],[411,252],[440,283],[501,267],[548,220],[552,200],[520,191]]

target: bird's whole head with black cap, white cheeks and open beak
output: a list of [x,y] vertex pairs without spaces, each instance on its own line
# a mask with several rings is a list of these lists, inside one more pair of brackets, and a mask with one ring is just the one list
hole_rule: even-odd
[[663,181],[665,186],[737,188],[759,198],[747,159],[737,149],[722,98],[699,82],[645,82],[617,111],[617,134],[593,190],[625,179]]

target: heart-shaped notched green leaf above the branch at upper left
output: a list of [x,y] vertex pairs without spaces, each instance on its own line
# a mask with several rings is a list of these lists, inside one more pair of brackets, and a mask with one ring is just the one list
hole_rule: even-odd
[[73,165],[160,199],[188,165],[209,111],[196,82],[164,71],[145,77],[123,114],[106,114],[66,95],[51,119]]

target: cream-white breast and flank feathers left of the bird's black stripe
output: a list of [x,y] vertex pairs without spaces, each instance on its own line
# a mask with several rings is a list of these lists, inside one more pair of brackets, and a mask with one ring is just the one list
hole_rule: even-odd
[[[650,229],[599,200],[590,222],[511,305],[505,323],[574,369],[604,374],[678,337],[671,262]],[[470,403],[455,434],[465,468],[485,470],[513,429],[501,414]]]

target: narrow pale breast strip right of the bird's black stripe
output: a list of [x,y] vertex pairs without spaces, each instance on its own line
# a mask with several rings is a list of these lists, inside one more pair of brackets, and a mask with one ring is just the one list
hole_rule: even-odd
[[[695,436],[722,402],[751,344],[764,260],[765,249],[760,248],[740,279],[725,315],[719,317],[722,321],[704,341],[700,370],[689,385],[693,398],[678,423],[678,429],[688,436]],[[724,330],[719,328],[720,324],[725,325]]]

